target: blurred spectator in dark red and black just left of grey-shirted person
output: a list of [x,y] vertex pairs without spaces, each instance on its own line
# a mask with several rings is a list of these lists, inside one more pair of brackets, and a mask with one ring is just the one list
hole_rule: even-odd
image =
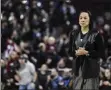
[[5,60],[6,62],[6,71],[5,75],[3,77],[6,78],[6,86],[5,89],[11,89],[13,88],[16,90],[18,86],[16,86],[16,80],[14,78],[16,74],[16,70],[19,68],[19,62],[18,62],[19,54],[16,51],[12,51],[9,54],[8,60]]

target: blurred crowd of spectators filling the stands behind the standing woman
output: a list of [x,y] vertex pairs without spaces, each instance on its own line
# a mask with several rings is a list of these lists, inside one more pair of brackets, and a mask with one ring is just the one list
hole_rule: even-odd
[[[1,0],[2,90],[72,88],[68,35],[79,28],[77,11],[70,0]],[[93,14],[107,57],[100,59],[100,90],[111,90],[111,7]]]

